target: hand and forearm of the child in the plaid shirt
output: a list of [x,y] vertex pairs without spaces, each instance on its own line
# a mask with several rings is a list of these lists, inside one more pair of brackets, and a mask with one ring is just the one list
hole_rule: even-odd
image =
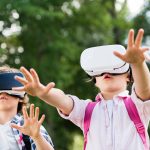
[[18,126],[16,124],[12,124],[13,128],[16,128],[20,132],[25,135],[30,136],[30,138],[34,141],[37,150],[54,150],[50,143],[42,136],[40,133],[40,127],[45,119],[43,115],[41,119],[39,118],[39,108],[36,108],[34,115],[34,105],[30,106],[30,116],[28,116],[26,107],[23,108],[23,117],[24,117],[24,125]]

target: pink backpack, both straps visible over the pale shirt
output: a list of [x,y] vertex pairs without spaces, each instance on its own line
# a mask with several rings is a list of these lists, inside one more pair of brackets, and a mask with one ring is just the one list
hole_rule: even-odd
[[[99,96],[96,97],[95,102],[89,102],[85,109],[84,131],[83,131],[84,132],[84,150],[86,149],[87,134],[88,134],[89,127],[90,127],[92,112],[98,102],[101,102],[101,99]],[[133,103],[131,97],[123,97],[123,102],[127,109],[128,115],[129,115],[130,119],[133,121],[135,128],[145,146],[145,150],[148,150],[148,146],[146,143],[145,127],[140,119],[140,116],[139,116],[139,113],[137,111],[135,104]]]

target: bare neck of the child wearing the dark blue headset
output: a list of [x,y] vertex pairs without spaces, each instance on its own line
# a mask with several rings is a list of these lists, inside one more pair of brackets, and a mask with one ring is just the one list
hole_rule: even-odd
[[0,110],[0,124],[5,124],[17,114],[17,110]]

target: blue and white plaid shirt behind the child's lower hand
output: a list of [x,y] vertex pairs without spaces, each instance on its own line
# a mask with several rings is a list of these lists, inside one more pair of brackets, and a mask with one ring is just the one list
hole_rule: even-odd
[[[11,120],[11,123],[15,123],[19,126],[22,126],[24,124],[24,119],[23,119],[22,115],[18,113],[13,117],[13,119]],[[12,128],[12,130],[13,130],[14,136],[17,140],[19,149],[20,150],[26,150],[25,143],[23,141],[22,133],[19,132],[15,128]],[[41,126],[41,128],[40,128],[40,132],[43,135],[43,137],[48,141],[48,143],[50,143],[53,146],[52,140],[51,140],[50,136],[48,135],[46,129],[43,126]],[[35,145],[34,141],[30,137],[29,137],[29,140],[31,143],[31,149],[36,150],[36,145]]]

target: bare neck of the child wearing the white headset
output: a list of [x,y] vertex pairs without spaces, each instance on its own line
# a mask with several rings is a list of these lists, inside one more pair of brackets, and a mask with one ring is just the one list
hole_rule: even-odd
[[109,91],[101,91],[101,94],[102,94],[102,96],[103,96],[103,98],[105,99],[105,100],[110,100],[110,99],[113,99],[113,97],[115,96],[115,95],[118,95],[119,93],[121,93],[121,92],[123,92],[124,90],[120,90],[120,91],[114,91],[114,92],[109,92]]

